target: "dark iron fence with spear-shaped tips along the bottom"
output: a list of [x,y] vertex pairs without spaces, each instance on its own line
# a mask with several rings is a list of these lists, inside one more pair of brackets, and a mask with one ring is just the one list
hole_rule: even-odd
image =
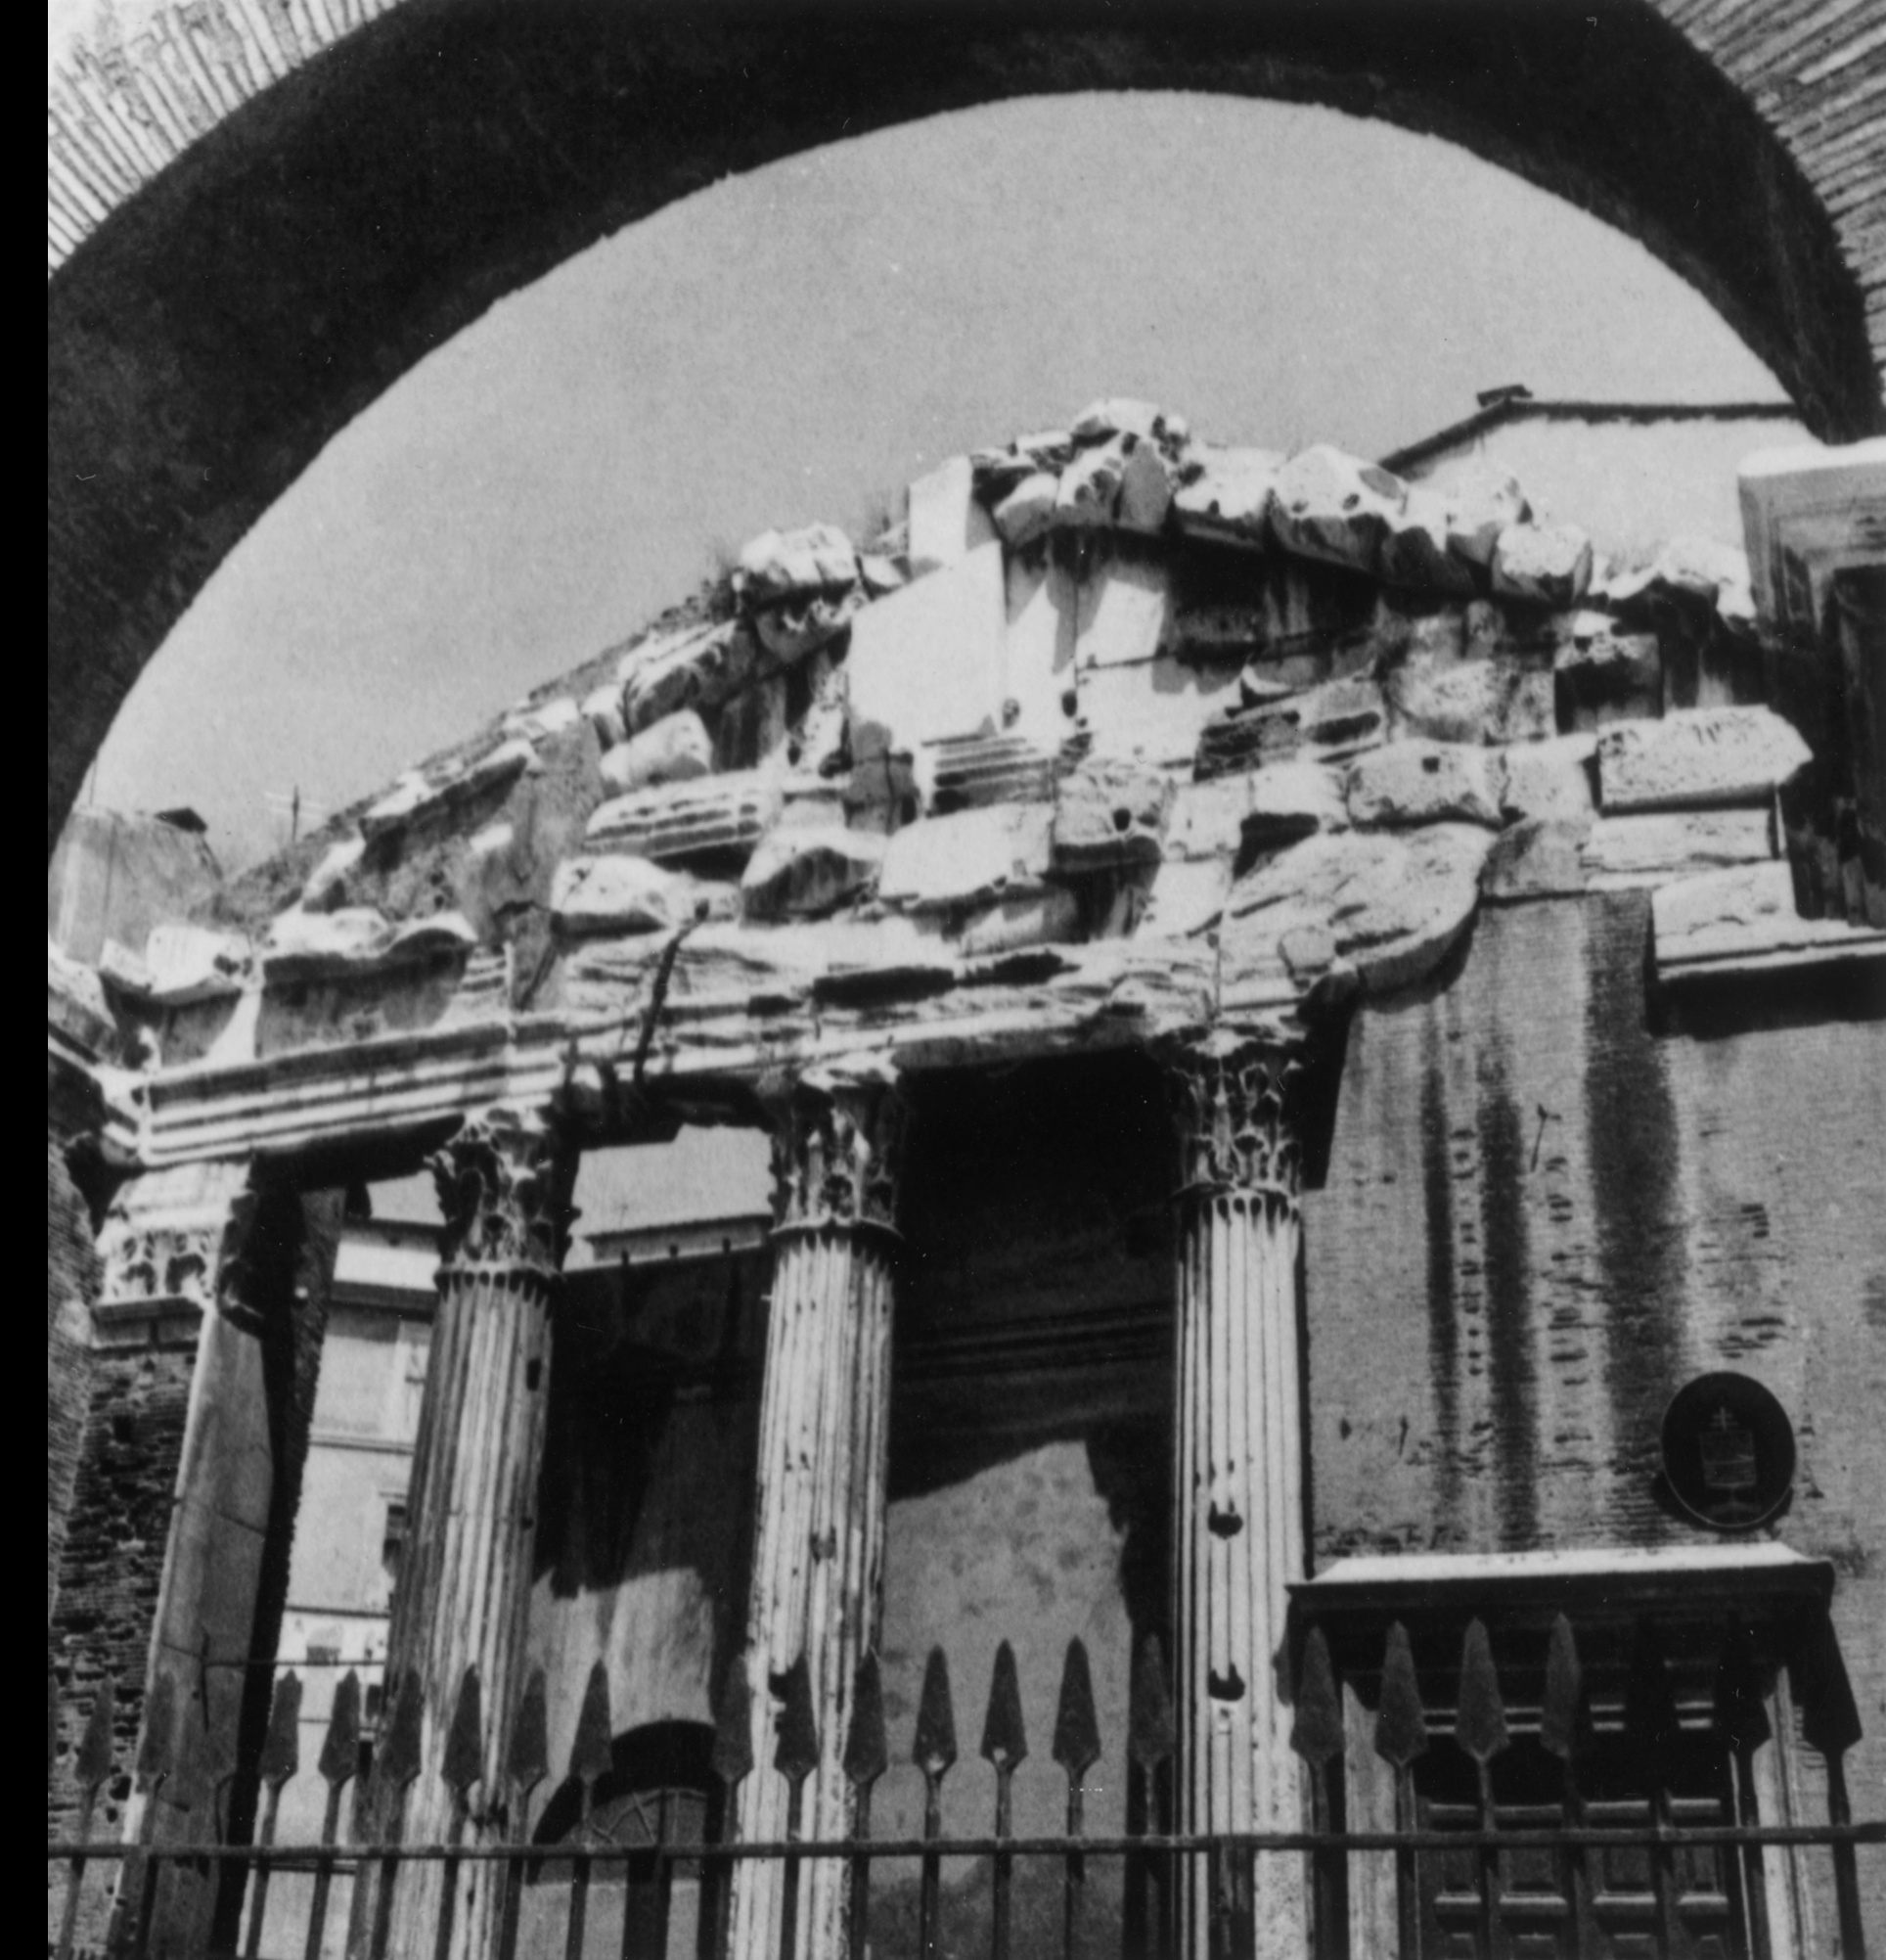
[[[1827,1656],[1819,1658],[1825,1662]],[[497,1893],[501,1899],[497,1960],[517,1960],[521,1950],[533,1954],[558,1950],[566,1960],[584,1960],[597,1950],[595,1942],[603,1929],[593,1919],[591,1889],[607,1878],[637,1891],[633,1907],[625,1893],[619,1942],[613,1936],[607,1940],[611,1950],[621,1952],[625,1960],[627,1956],[670,1952],[674,1893],[680,1876],[687,1876],[699,1887],[695,1909],[703,1931],[699,1944],[691,1950],[725,1952],[731,1874],[742,1862],[766,1860],[785,1864],[787,1911],[779,1952],[791,1960],[846,1960],[844,1954],[793,1954],[795,1917],[791,1905],[799,1895],[803,1870],[813,1862],[832,1860],[852,1874],[844,1936],[846,1954],[852,1960],[864,1960],[868,1950],[885,1950],[881,1942],[872,1946],[870,1933],[872,1872],[873,1866],[885,1862],[915,1866],[917,1921],[911,1950],[932,1956],[946,1946],[942,1925],[946,1915],[944,1864],[967,1860],[987,1864],[987,1933],[979,1931],[977,1938],[987,1944],[991,1960],[1013,1960],[1016,1952],[1014,1874],[1020,1860],[1036,1860],[1060,1872],[1056,1938],[1060,1952],[1065,1960],[1075,1960],[1075,1956],[1099,1960],[1103,1946],[1097,1933],[1101,1929],[1089,1923],[1093,1907],[1089,1864],[1118,1860],[1122,1874],[1132,1874],[1140,1886],[1140,1903],[1128,1917],[1122,1917],[1118,1927],[1107,1929],[1105,1952],[1108,1956],[1177,1960],[1173,1927],[1179,1882],[1189,1866],[1197,1868],[1202,1862],[1210,1874],[1208,1889],[1214,1899],[1210,1925],[1202,1933],[1210,1960],[1244,1960],[1251,1948],[1249,1931],[1248,1927],[1240,1929],[1236,1917],[1238,1872],[1242,1868],[1248,1876],[1253,1858],[1291,1856],[1304,1860],[1306,1895],[1314,1901],[1316,1960],[1375,1960],[1377,1954],[1383,1960],[1389,1954],[1416,1960],[1420,1954],[1439,1950],[1432,1929],[1424,1931],[1422,1921],[1422,1884],[1424,1872],[1432,1876],[1432,1860],[1457,1862],[1465,1854],[1467,1860],[1475,1862],[1477,1891],[1469,1899],[1477,1915],[1475,1931],[1469,1935],[1475,1952],[1506,1952],[1516,1929],[1539,1925],[1537,1893],[1512,1897],[1502,1893],[1502,1858],[1520,1852],[1545,1854],[1557,1862],[1555,1868],[1575,1874],[1563,1901],[1553,1901],[1553,1911],[1563,1907],[1559,1923],[1571,1940],[1565,1948],[1569,1952],[1604,1950],[1592,1917],[1592,1887],[1584,1878],[1586,1860],[1604,1852],[1637,1854],[1643,1886],[1641,1897],[1631,1895],[1629,1911],[1651,1929],[1653,1936],[1665,1940],[1667,1950],[1676,1952],[1686,1950],[1682,1944],[1686,1935],[1678,1921],[1686,1903],[1676,1876],[1678,1860],[1682,1854],[1710,1850],[1721,1854],[1721,1868],[1727,1874],[1723,1886],[1741,1887],[1739,1907],[1735,1907],[1735,1923],[1741,1933],[1731,1950],[1743,1950],[1751,1960],[1796,1960],[1796,1956],[1774,1952],[1770,1946],[1763,1893],[1763,1852],[1815,1850],[1831,1866],[1841,1950],[1849,1956],[1862,1956],[1864,1933],[1855,1852],[1861,1846],[1886,1846],[1886,1821],[1857,1823],[1851,1817],[1841,1756],[1859,1739],[1859,1721],[1853,1713],[1851,1691],[1845,1688],[1845,1674],[1837,1670],[1837,1660],[1833,1666],[1837,1682],[1831,1699],[1825,1682],[1821,1682],[1814,1688],[1812,1697],[1804,1697],[1802,1709],[1804,1737],[1827,1762],[1827,1819],[1804,1825],[1763,1821],[1757,1815],[1749,1795],[1753,1786],[1747,1770],[1753,1750],[1770,1740],[1770,1729],[1763,1713],[1761,1680],[1753,1660],[1745,1646],[1731,1639],[1714,1672],[1714,1701],[1706,1727],[1698,1729],[1692,1717],[1688,1733],[1692,1737],[1704,1735],[1710,1746],[1721,1752],[1723,1764],[1735,1766],[1733,1772],[1725,1768],[1725,1788],[1739,1789],[1743,1795],[1729,1807],[1733,1821],[1682,1821],[1669,1801],[1657,1754],[1659,1746],[1671,1744],[1678,1737],[1674,1686],[1655,1641],[1639,1639],[1629,1662],[1627,1691],[1618,1707],[1608,1709],[1606,1721],[1614,1733],[1622,1725],[1624,1735],[1641,1731],[1649,1739],[1639,1758],[1643,1764],[1639,1805],[1643,1821],[1602,1823],[1588,1815],[1580,1793],[1580,1762],[1590,1752],[1592,1737],[1592,1697],[1569,1621],[1559,1615],[1551,1629],[1543,1697],[1528,1705],[1524,1715],[1516,1711],[1512,1729],[1508,1729],[1508,1709],[1500,1693],[1486,1629],[1481,1621],[1473,1621],[1461,1642],[1459,1666],[1449,1670],[1449,1684],[1455,1690],[1453,1705],[1438,1711],[1434,1719],[1436,1735],[1451,1737],[1453,1744],[1477,1766],[1481,1809],[1475,1821],[1465,1821],[1473,1811],[1463,1809],[1459,1825],[1438,1829],[1432,1821],[1424,1821],[1428,1811],[1414,1799],[1414,1764],[1430,1748],[1430,1709],[1422,1703],[1420,1676],[1408,1635],[1400,1623],[1394,1623],[1387,1633],[1379,1668],[1371,1668],[1377,1707],[1369,1740],[1373,1754],[1392,1782],[1396,1821],[1392,1829],[1355,1829],[1344,1823],[1338,1782],[1344,1748],[1353,1750],[1355,1742],[1353,1737],[1345,1737],[1338,1670],[1332,1666],[1322,1631],[1312,1627],[1308,1637],[1298,1642],[1293,1688],[1293,1746],[1306,1770],[1312,1827],[1287,1833],[1173,1833],[1161,1829],[1161,1821],[1169,1819],[1169,1791],[1163,1778],[1173,1766],[1177,1725],[1157,1642],[1146,1641],[1130,1674],[1126,1735],[1126,1760],[1142,1829],[1089,1833],[1083,1791],[1087,1772],[1101,1760],[1103,1746],[1087,1652],[1079,1641],[1073,1641],[1061,1674],[1050,1748],[1052,1762],[1067,1786],[1065,1831],[1042,1835],[1013,1829],[1013,1778],[1028,1756],[1028,1740],[1014,1654],[1009,1642],[1003,1642],[995,1660],[989,1709],[977,1750],[993,1770],[993,1829],[981,1835],[946,1835],[942,1829],[942,1786],[958,1752],[950,1674],[942,1652],[936,1650],[924,1672],[911,1748],[911,1762],[924,1784],[924,1827],[920,1835],[873,1837],[870,1833],[872,1788],[889,1768],[889,1748],[877,1658],[866,1654],[854,1684],[850,1733],[842,1756],[842,1774],[856,1799],[852,1813],[856,1829],[846,1837],[801,1837],[797,1833],[799,1805],[793,1803],[787,1809],[787,1835],[768,1842],[734,1842],[725,1837],[715,1838],[709,1831],[701,1831],[701,1840],[682,1837],[674,1823],[672,1793],[666,1791],[656,1801],[633,1805],[640,1827],[652,1833],[646,1840],[611,1837],[597,1825],[599,1793],[615,1788],[607,1782],[615,1758],[609,1748],[613,1725],[607,1674],[601,1662],[589,1676],[562,1786],[566,1795],[558,1797],[558,1801],[568,1797],[572,1809],[562,1837],[544,1835],[548,1831],[546,1811],[539,1817],[535,1838],[529,1837],[527,1829],[531,1797],[548,1778],[542,1672],[531,1676],[511,1723],[505,1789],[501,1795],[492,1793],[503,1803],[503,1809],[492,1817],[480,1817],[472,1805],[472,1791],[482,1784],[484,1697],[476,1670],[468,1670],[452,1697],[452,1721],[439,1772],[454,1799],[452,1837],[445,1842],[401,1842],[398,1829],[394,1829],[374,1842],[347,1838],[343,1835],[343,1799],[347,1788],[360,1780],[364,1762],[370,1762],[366,1774],[384,1780],[396,1795],[407,1791],[417,1780],[417,1739],[423,1713],[421,1686],[409,1674],[382,1711],[378,1750],[368,1756],[360,1725],[360,1682],[356,1674],[349,1672],[335,1688],[315,1766],[325,1786],[319,1838],[280,1842],[282,1791],[300,1770],[302,1682],[294,1672],[288,1672],[276,1682],[268,1733],[253,1766],[259,1795],[253,1842],[155,1840],[157,1797],[174,1772],[176,1737],[182,1731],[184,1715],[163,1680],[147,1699],[143,1735],[131,1768],[131,1786],[143,1799],[137,1829],[129,1840],[100,1842],[92,1837],[92,1825],[100,1791],[116,1768],[112,1748],[116,1690],[108,1682],[96,1697],[72,1758],[78,1793],[76,1835],[47,1846],[55,1893],[59,1870],[65,1872],[65,1893],[55,1915],[59,1931],[49,1936],[47,1952],[55,1960],[80,1960],[80,1956],[94,1952],[106,1954],[110,1960],[143,1960],[157,1950],[153,1944],[159,1936],[155,1913],[163,1891],[163,1874],[190,1870],[198,1876],[227,1876],[233,1866],[243,1884],[241,1935],[235,1944],[223,1944],[213,1952],[225,1960],[288,1960],[290,1954],[300,1956],[300,1960],[319,1960],[323,1952],[333,1950],[341,1931],[335,1880],[378,1868],[384,1874],[378,1893],[380,1911],[374,1915],[372,1927],[353,1929],[354,1940],[349,1952],[364,1952],[368,1960],[390,1960],[386,1944],[388,1893],[400,1882],[400,1868],[429,1864],[447,1866],[435,1948],[439,1954],[447,1954],[452,1944],[454,1878],[460,1868],[490,1870],[501,1887]],[[1802,1670],[1804,1682],[1810,1672],[1812,1666]],[[819,1760],[805,1668],[787,1670],[774,1688],[783,1705],[778,1711],[778,1752],[770,1772],[783,1776],[787,1786],[795,1789],[809,1774],[811,1764]],[[1845,1701],[1843,1695],[1847,1695]],[[699,1813],[707,1819],[715,1815],[734,1817],[738,1786],[758,1770],[752,1756],[754,1729],[744,1668],[731,1670],[717,1715],[711,1776],[721,1789],[717,1809]],[[1522,1729],[1563,1764],[1561,1821],[1557,1823],[1498,1823],[1490,1764]],[[227,1774],[223,1782],[227,1782]],[[400,1805],[394,1805],[388,1815],[398,1819]],[[1132,1811],[1128,1815],[1132,1817]],[[472,1835],[474,1821],[482,1825],[482,1837]],[[1394,1929],[1379,1944],[1371,1944],[1369,1952],[1351,1948],[1347,1915],[1349,1860],[1359,1856],[1392,1860],[1394,1870]],[[110,1923],[102,1946],[78,1944],[80,1895],[88,1872],[94,1893],[100,1884],[110,1893]],[[280,1887],[272,1891],[272,1882],[288,1874],[311,1880],[311,1886],[302,1887],[306,1903],[298,1897],[296,1911],[288,1915],[296,1923],[284,1931],[282,1893]],[[560,1889],[564,1899],[560,1925],[550,1933],[550,1946],[544,1946],[542,1925],[527,1948],[519,1946],[521,1905],[531,1882],[544,1895]],[[975,1884],[983,1884],[983,1874],[975,1874]],[[272,1923],[270,1899],[276,1899]],[[1616,1907],[1616,1899],[1610,1905]],[[981,1927],[981,1919],[977,1925]],[[1026,1950],[1042,1952],[1040,1940],[1036,1925]],[[958,1940],[948,1942],[950,1950],[956,1950],[958,1944]],[[174,1944],[174,1935],[165,1950],[180,1950]],[[1465,1948],[1449,1946],[1447,1950]],[[1187,1956],[1187,1960],[1195,1960],[1195,1956]]]

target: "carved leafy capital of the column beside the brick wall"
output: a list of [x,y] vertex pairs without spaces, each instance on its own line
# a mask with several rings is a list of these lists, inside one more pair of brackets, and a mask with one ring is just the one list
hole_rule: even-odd
[[1302,1045],[1214,1029],[1167,1060],[1179,1196],[1251,1192],[1295,1205],[1302,1188]]

